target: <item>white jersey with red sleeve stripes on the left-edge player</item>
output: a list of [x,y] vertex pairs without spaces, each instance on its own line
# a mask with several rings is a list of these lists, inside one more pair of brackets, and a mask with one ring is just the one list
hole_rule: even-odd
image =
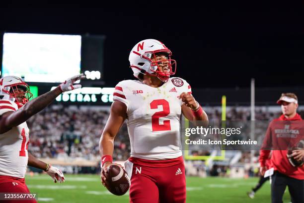
[[[7,111],[16,111],[16,103],[0,100],[0,115]],[[26,122],[0,134],[0,175],[24,178],[28,154],[29,129]]]

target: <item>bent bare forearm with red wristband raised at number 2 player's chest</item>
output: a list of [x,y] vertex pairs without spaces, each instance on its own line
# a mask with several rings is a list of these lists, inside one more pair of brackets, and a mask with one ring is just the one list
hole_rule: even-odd
[[203,125],[208,125],[208,115],[203,110],[198,102],[194,99],[191,94],[182,93],[179,98],[184,103],[182,107],[183,115],[191,121],[200,120],[204,121]]

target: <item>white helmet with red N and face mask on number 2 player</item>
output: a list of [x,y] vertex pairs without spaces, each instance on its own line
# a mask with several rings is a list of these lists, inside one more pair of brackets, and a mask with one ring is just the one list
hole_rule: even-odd
[[[156,57],[159,55],[164,55],[166,58],[156,61]],[[176,61],[171,59],[171,55],[172,52],[158,40],[146,39],[139,42],[133,47],[129,56],[133,75],[139,78],[139,74],[142,73],[156,76],[159,80],[166,82],[176,72]],[[166,72],[162,71],[160,67],[160,64],[163,63],[167,63],[168,71]]]

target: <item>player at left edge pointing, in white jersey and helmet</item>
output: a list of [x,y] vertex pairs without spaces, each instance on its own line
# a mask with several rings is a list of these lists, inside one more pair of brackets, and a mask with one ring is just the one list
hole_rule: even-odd
[[74,83],[83,78],[83,74],[69,78],[56,89],[31,101],[29,86],[20,78],[6,76],[0,79],[0,193],[29,193],[24,182],[27,166],[46,171],[55,183],[64,182],[64,175],[58,168],[36,159],[27,151],[30,138],[26,120],[61,93],[80,88],[81,85]]

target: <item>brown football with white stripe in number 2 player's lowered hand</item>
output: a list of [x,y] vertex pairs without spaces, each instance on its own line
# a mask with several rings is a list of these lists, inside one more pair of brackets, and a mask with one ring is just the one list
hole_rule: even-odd
[[118,165],[111,165],[107,170],[108,173],[105,177],[108,191],[117,196],[124,195],[131,185],[127,172]]

